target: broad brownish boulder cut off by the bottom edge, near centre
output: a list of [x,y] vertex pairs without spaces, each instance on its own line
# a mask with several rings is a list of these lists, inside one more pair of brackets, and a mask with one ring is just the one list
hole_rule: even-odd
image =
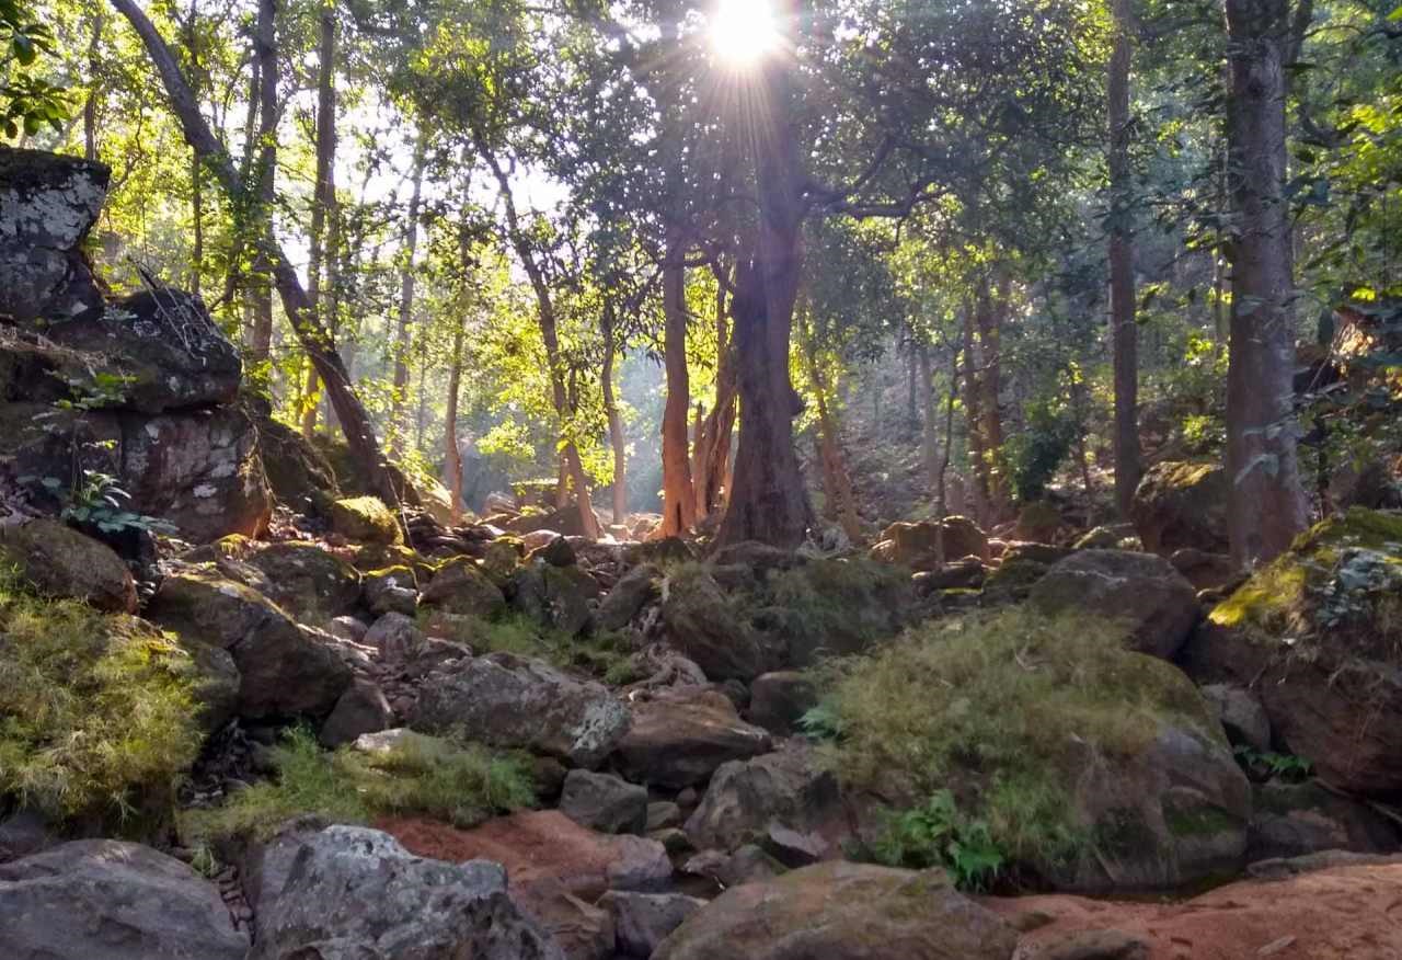
[[726,890],[652,960],[1009,960],[1016,946],[939,870],[837,862]]

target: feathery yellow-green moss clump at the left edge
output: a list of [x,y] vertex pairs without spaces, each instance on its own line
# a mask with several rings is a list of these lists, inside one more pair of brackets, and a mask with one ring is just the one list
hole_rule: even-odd
[[199,754],[198,684],[149,623],[0,584],[0,797],[116,829],[163,813]]

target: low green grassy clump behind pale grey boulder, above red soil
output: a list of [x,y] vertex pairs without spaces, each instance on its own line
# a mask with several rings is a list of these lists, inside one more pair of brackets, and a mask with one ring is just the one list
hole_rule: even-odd
[[524,758],[421,734],[377,752],[353,747],[325,752],[311,731],[297,728],[273,748],[273,764],[275,780],[241,790],[223,807],[186,811],[182,838],[191,844],[266,839],[303,815],[341,824],[423,815],[475,827],[496,813],[536,804]]

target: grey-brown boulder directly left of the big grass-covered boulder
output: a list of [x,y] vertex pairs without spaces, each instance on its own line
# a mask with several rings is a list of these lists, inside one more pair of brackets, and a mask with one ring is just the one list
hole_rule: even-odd
[[837,849],[847,834],[837,778],[798,745],[722,764],[686,831],[698,848],[733,851],[763,841],[775,824],[815,838],[826,834],[816,844],[824,851]]

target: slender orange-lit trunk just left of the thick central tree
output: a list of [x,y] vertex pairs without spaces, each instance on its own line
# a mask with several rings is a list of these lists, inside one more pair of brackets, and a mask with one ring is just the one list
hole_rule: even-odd
[[691,456],[687,451],[687,414],[691,411],[691,383],[687,373],[687,303],[683,251],[669,246],[662,267],[663,366],[667,375],[667,403],[662,411],[662,525],[659,536],[680,536],[697,522],[695,488],[691,486]]

